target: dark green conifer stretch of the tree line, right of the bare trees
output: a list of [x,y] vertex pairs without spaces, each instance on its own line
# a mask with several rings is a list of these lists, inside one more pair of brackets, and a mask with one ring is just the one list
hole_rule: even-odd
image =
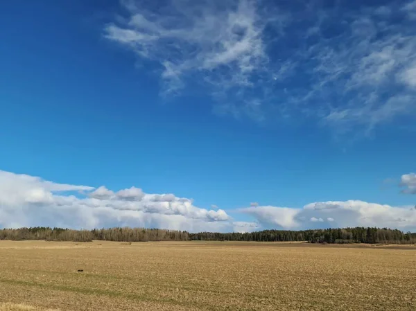
[[255,241],[255,242],[291,242],[311,243],[390,243],[414,244],[416,233],[403,233],[397,229],[345,228],[318,230],[263,230],[250,233],[189,233],[191,240],[205,241]]

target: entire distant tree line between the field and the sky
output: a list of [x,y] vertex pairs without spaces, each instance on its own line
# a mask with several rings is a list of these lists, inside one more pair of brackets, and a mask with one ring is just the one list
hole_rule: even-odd
[[263,230],[250,233],[188,233],[164,229],[110,228],[92,230],[73,230],[49,228],[43,226],[2,229],[0,240],[49,240],[90,242],[107,240],[119,242],[146,241],[254,241],[254,242],[291,242],[306,241],[311,243],[390,243],[415,244],[416,233],[404,233],[397,229],[379,228],[345,228],[318,230]]

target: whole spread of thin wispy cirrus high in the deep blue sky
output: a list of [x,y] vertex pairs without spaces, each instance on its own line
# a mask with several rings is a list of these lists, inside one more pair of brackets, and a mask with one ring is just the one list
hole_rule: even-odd
[[104,36],[154,64],[164,96],[197,83],[220,114],[312,118],[338,134],[416,114],[415,1],[131,0],[121,8]]

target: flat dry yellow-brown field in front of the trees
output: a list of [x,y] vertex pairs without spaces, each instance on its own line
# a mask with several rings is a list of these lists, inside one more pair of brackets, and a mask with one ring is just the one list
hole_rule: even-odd
[[0,268],[1,311],[416,310],[414,247],[0,241]]

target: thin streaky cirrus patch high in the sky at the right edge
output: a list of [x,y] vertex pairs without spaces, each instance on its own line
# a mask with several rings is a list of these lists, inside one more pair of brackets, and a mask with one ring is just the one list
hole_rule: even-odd
[[329,113],[324,117],[329,125],[372,130],[415,113],[414,30],[378,19],[359,17],[350,21],[331,47],[314,46],[319,50],[315,70],[324,73],[315,89],[323,96],[336,95],[329,100]]

